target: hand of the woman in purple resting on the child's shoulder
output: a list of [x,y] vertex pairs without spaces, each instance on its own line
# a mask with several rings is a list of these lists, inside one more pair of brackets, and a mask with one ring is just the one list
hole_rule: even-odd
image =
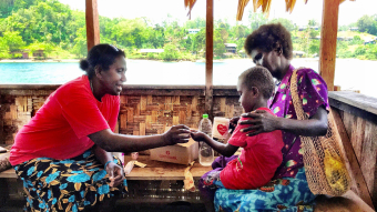
[[252,124],[251,127],[242,130],[243,132],[253,131],[247,134],[248,137],[253,137],[262,132],[278,130],[278,118],[265,110],[252,111],[249,113],[242,114],[242,117],[252,118],[240,122],[240,124]]

